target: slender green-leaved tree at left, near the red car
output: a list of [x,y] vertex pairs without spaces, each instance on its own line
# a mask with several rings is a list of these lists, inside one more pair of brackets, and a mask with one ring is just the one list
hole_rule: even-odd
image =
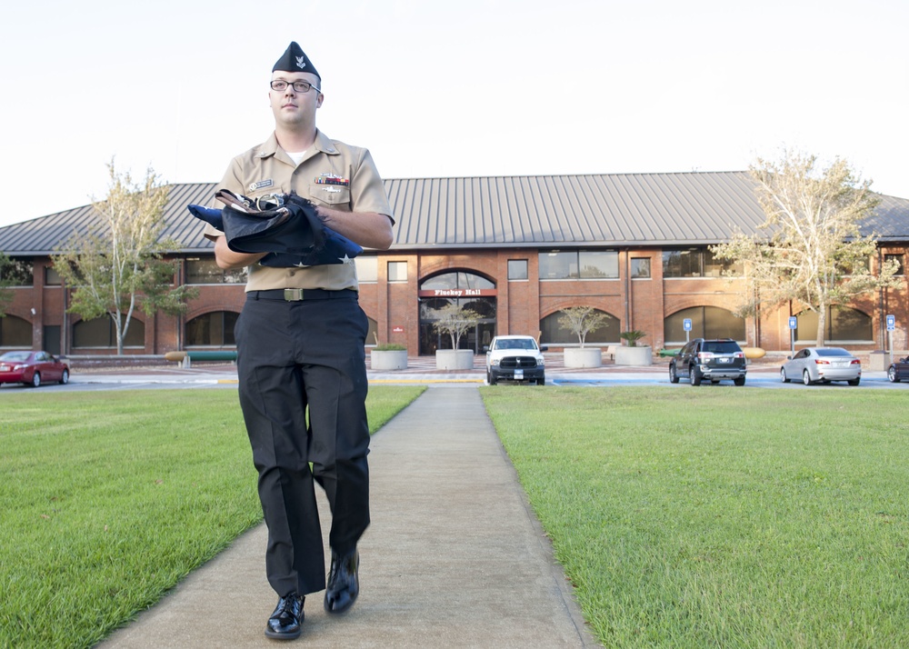
[[178,249],[173,239],[160,240],[165,229],[167,187],[149,168],[142,185],[127,172],[119,174],[114,161],[107,165],[107,197],[93,203],[98,220],[77,232],[51,258],[65,285],[73,289],[71,313],[92,320],[109,315],[116,331],[117,354],[139,308],[176,315],[195,289],[175,285],[175,261],[163,256]]

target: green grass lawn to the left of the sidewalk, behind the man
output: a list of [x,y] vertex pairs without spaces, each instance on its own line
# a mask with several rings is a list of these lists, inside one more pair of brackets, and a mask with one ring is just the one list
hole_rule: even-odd
[[[424,388],[371,386],[375,432]],[[88,647],[258,523],[233,390],[0,398],[0,647]]]

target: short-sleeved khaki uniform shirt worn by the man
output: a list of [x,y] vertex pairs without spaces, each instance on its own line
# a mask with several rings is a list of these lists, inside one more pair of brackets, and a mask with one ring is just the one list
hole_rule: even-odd
[[[328,185],[317,181],[328,177],[349,181],[349,185]],[[343,212],[376,212],[392,217],[382,178],[375,170],[369,151],[329,139],[321,131],[299,165],[286,154],[273,133],[263,145],[237,155],[227,168],[218,189],[249,198],[266,194],[296,194]],[[223,207],[223,205],[215,205]],[[393,220],[394,223],[394,220]],[[224,233],[212,225],[205,237],[214,241]],[[275,288],[325,288],[337,291],[357,289],[354,260],[346,264],[326,264],[305,268],[247,267],[246,291]]]

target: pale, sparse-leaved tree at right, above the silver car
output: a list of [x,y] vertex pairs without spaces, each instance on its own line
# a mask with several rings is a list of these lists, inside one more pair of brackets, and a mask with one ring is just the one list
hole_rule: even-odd
[[895,262],[872,274],[877,244],[874,235],[862,235],[879,199],[871,182],[840,158],[818,168],[815,155],[786,151],[778,162],[758,158],[749,171],[766,220],[756,235],[739,233],[711,248],[746,269],[752,290],[737,315],[757,313],[762,305],[801,303],[817,314],[816,344],[824,346],[830,306],[897,284]]

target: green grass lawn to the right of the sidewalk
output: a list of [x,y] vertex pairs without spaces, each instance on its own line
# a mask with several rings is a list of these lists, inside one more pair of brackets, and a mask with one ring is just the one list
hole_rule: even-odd
[[481,390],[605,646],[909,646],[905,394]]

